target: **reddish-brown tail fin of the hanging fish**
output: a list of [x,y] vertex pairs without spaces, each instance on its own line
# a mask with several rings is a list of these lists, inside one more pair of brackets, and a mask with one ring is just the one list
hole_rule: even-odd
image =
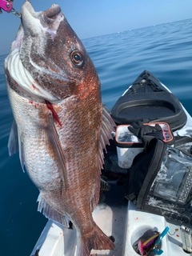
[[90,256],[90,251],[94,250],[114,250],[114,242],[110,240],[96,225],[89,234],[82,235],[78,256]]

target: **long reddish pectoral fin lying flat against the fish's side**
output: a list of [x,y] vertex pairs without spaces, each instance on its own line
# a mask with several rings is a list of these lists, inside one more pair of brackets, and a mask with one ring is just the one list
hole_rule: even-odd
[[62,145],[58,137],[58,132],[54,124],[54,117],[51,111],[49,112],[49,125],[39,127],[39,141],[46,138],[46,150],[50,152],[50,156],[54,159],[58,166],[60,177],[62,180],[62,188],[67,189],[67,174],[66,174],[66,158],[62,151]]

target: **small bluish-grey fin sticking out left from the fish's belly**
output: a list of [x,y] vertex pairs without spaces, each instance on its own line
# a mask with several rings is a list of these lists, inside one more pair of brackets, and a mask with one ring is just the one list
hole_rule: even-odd
[[15,120],[13,121],[10,129],[10,137],[7,146],[10,156],[18,152],[18,126]]

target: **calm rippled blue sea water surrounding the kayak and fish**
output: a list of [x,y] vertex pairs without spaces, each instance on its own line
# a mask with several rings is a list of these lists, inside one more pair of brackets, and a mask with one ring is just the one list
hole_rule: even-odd
[[[110,109],[143,70],[172,90],[192,114],[192,19],[83,40],[102,82],[102,102]],[[22,173],[7,140],[13,116],[0,56],[0,255],[28,256],[46,224],[37,212],[38,190]]]

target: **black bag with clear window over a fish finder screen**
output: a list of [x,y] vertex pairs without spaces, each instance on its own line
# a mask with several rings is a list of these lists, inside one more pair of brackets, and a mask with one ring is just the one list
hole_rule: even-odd
[[151,138],[128,169],[126,198],[140,210],[192,224],[192,157]]

